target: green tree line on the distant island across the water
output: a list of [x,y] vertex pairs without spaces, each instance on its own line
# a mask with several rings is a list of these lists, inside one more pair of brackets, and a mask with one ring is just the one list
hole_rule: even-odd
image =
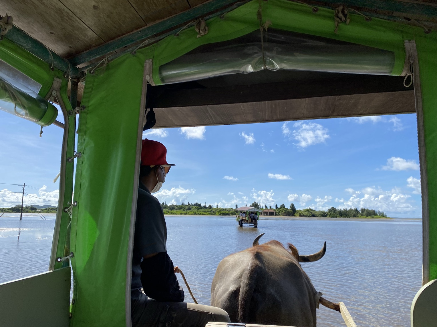
[[[247,204],[245,205],[247,207]],[[166,202],[161,203],[164,215],[217,215],[217,216],[233,216],[237,215],[236,209],[239,208],[238,204],[235,208],[219,208],[218,204],[212,206],[211,204],[201,204],[200,202],[182,202],[182,204],[167,204]],[[273,209],[271,206],[267,208],[258,204],[256,201],[250,204],[250,207],[257,209]],[[384,211],[376,211],[368,208],[349,208],[349,209],[339,209],[331,207],[328,210],[314,210],[312,208],[299,209],[295,208],[293,203],[290,207],[285,207],[285,204],[278,206],[275,204],[274,209],[276,215],[278,216],[289,216],[289,217],[329,217],[329,218],[386,218]]]

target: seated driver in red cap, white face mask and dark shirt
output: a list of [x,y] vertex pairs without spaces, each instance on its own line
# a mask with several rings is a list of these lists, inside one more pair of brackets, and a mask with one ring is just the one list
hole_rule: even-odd
[[[208,321],[230,322],[219,308],[184,303],[184,290],[167,254],[163,209],[152,193],[160,190],[170,167],[166,147],[142,140],[135,238],[132,256],[132,326],[203,327]],[[149,298],[150,299],[149,299]]]

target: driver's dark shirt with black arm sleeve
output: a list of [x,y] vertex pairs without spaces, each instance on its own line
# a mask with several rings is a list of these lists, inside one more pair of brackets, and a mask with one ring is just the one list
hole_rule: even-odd
[[[132,255],[132,295],[143,288],[150,298],[183,302],[184,290],[167,254],[167,226],[161,204],[140,181]],[[144,256],[158,253],[151,258]]]

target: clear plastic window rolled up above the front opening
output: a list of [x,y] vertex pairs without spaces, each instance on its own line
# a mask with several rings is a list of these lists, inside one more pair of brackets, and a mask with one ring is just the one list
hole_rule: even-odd
[[395,53],[314,35],[269,29],[202,45],[160,66],[163,84],[221,75],[292,69],[390,75]]

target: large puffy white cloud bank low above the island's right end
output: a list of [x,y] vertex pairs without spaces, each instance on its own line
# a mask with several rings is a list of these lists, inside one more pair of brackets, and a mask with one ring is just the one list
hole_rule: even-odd
[[[361,195],[362,194],[362,195]],[[405,214],[415,208],[408,202],[410,195],[402,194],[398,189],[383,191],[381,188],[366,187],[362,192],[355,192],[340,208],[369,208],[385,213]]]

